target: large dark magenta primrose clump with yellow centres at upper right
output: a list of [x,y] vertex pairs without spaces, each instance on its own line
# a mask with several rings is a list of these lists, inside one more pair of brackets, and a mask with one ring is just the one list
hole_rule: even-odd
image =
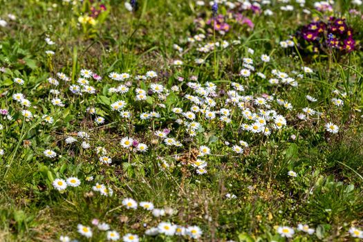
[[[346,53],[355,49],[353,30],[347,26],[345,19],[329,17],[327,22],[314,21],[297,31],[296,37],[300,48],[313,46],[315,53],[331,48]],[[301,43],[302,39],[304,43]]]

